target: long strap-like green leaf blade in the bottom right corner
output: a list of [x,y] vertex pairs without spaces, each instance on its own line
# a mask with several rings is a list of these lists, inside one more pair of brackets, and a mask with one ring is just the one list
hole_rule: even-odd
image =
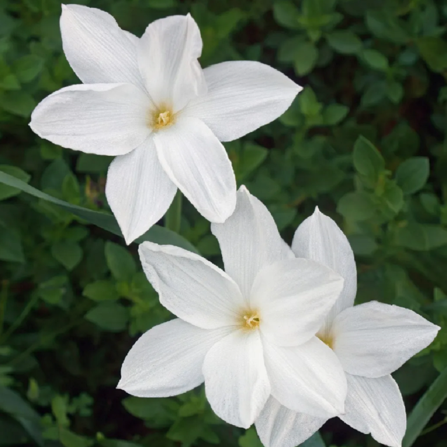
[[402,447],[411,447],[430,421],[435,411],[447,398],[447,368],[430,385],[419,399],[407,419],[407,431]]

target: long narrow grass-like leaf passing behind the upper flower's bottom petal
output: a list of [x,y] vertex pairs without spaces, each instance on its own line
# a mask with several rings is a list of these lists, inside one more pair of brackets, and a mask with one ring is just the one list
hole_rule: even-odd
[[[63,200],[56,199],[48,194],[39,191],[32,186],[27,185],[25,182],[8,175],[4,172],[0,171],[0,183],[4,183],[8,186],[12,186],[14,188],[18,188],[27,194],[31,194],[34,197],[39,199],[43,199],[47,202],[54,203],[65,210],[73,213],[75,216],[85,219],[90,224],[97,225],[101,228],[104,228],[111,233],[117,234],[118,236],[123,237],[123,234],[116,222],[115,218],[106,213],[100,213],[98,211],[88,210],[87,208],[82,208],[77,205],[72,205],[68,202],[64,202]],[[182,247],[186,250],[193,251],[197,253],[196,248],[185,238],[180,236],[179,234],[174,233],[173,231],[168,230],[167,228],[163,228],[158,225],[153,225],[149,231],[147,231],[143,236],[139,237],[135,242],[141,243],[145,240],[149,240],[150,242],[155,242],[157,244],[162,245],[176,245],[178,247]]]

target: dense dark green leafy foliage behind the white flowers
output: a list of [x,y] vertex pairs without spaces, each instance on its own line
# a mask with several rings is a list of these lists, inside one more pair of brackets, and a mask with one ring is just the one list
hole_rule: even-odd
[[[427,423],[414,445],[446,446],[447,1],[83,4],[138,36],[156,18],[191,12],[202,66],[259,60],[305,85],[279,120],[225,144],[238,184],[288,242],[315,205],[335,219],[356,254],[357,303],[398,304],[442,327],[394,376],[408,413],[423,396],[404,447]],[[0,446],[260,447],[253,429],[213,414],[202,388],[165,399],[115,389],[133,342],[170,315],[138,245],[125,247],[114,219],[98,213],[108,210],[110,158],[62,149],[27,125],[38,101],[78,82],[60,12],[57,0],[0,1]],[[186,200],[182,237],[159,224],[143,239],[222,264],[209,223]],[[338,419],[305,443],[377,445]]]

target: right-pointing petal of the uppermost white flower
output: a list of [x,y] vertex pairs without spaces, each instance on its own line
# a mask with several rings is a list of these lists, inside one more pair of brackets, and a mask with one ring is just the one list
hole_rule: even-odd
[[208,93],[185,109],[221,141],[236,140],[278,118],[302,87],[278,70],[253,61],[212,65],[204,71]]

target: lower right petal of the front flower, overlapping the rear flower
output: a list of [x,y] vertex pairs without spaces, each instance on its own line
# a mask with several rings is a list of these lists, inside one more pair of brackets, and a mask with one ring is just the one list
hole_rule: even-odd
[[272,395],[299,413],[330,418],[343,413],[346,377],[337,356],[316,337],[280,347],[263,339]]

